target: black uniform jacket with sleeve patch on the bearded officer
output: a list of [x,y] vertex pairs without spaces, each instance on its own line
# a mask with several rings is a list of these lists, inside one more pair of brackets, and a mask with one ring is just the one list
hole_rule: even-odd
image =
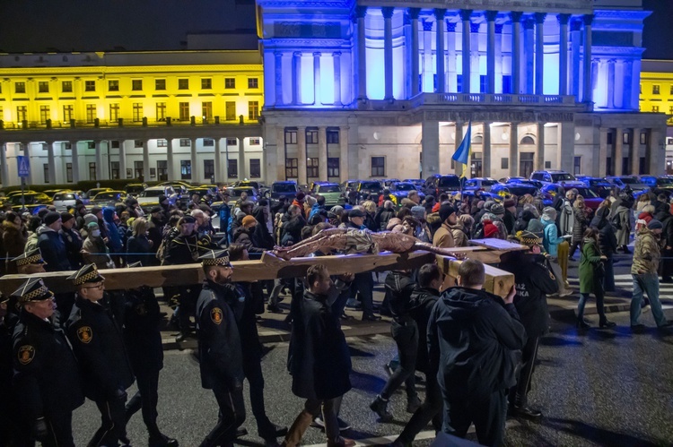
[[233,284],[204,281],[197,302],[197,336],[205,389],[213,389],[215,383],[230,390],[243,386],[243,354],[234,312],[242,313],[244,299]]

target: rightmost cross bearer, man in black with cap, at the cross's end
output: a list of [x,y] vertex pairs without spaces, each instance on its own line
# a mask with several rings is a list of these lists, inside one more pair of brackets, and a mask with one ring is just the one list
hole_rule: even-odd
[[517,385],[510,389],[510,411],[516,416],[536,419],[541,417],[542,413],[528,406],[527,395],[538,357],[539,340],[549,328],[546,295],[557,293],[558,283],[554,274],[546,267],[544,255],[540,254],[542,238],[524,231],[519,239],[522,245],[529,246],[529,251],[507,252],[503,254],[500,263],[503,271],[509,271],[514,275],[517,290],[514,305],[528,336],[521,352],[522,365]]

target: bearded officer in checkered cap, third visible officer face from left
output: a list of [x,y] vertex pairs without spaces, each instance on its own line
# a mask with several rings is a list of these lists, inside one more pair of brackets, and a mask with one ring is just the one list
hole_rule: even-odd
[[201,386],[213,390],[220,407],[217,425],[202,447],[232,446],[236,431],[245,422],[243,354],[236,324],[245,297],[232,284],[232,264],[227,250],[211,250],[199,257],[205,281],[197,301],[198,354]]

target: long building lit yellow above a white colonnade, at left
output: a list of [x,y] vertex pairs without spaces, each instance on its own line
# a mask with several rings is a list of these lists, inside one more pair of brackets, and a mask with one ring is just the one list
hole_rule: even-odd
[[18,185],[265,176],[256,50],[0,55],[0,173]]

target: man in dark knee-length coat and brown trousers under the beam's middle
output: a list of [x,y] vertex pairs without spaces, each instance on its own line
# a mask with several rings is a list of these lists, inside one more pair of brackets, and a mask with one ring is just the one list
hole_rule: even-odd
[[312,265],[307,271],[309,284],[296,306],[288,352],[288,369],[293,376],[293,394],[306,399],[302,412],[294,420],[284,445],[294,447],[313,418],[322,411],[328,447],[353,446],[354,441],[339,434],[335,400],[351,389],[351,355],[341,331],[339,315],[333,314],[330,300],[338,289],[353,279],[345,275],[343,286],[329,278],[327,267]]

